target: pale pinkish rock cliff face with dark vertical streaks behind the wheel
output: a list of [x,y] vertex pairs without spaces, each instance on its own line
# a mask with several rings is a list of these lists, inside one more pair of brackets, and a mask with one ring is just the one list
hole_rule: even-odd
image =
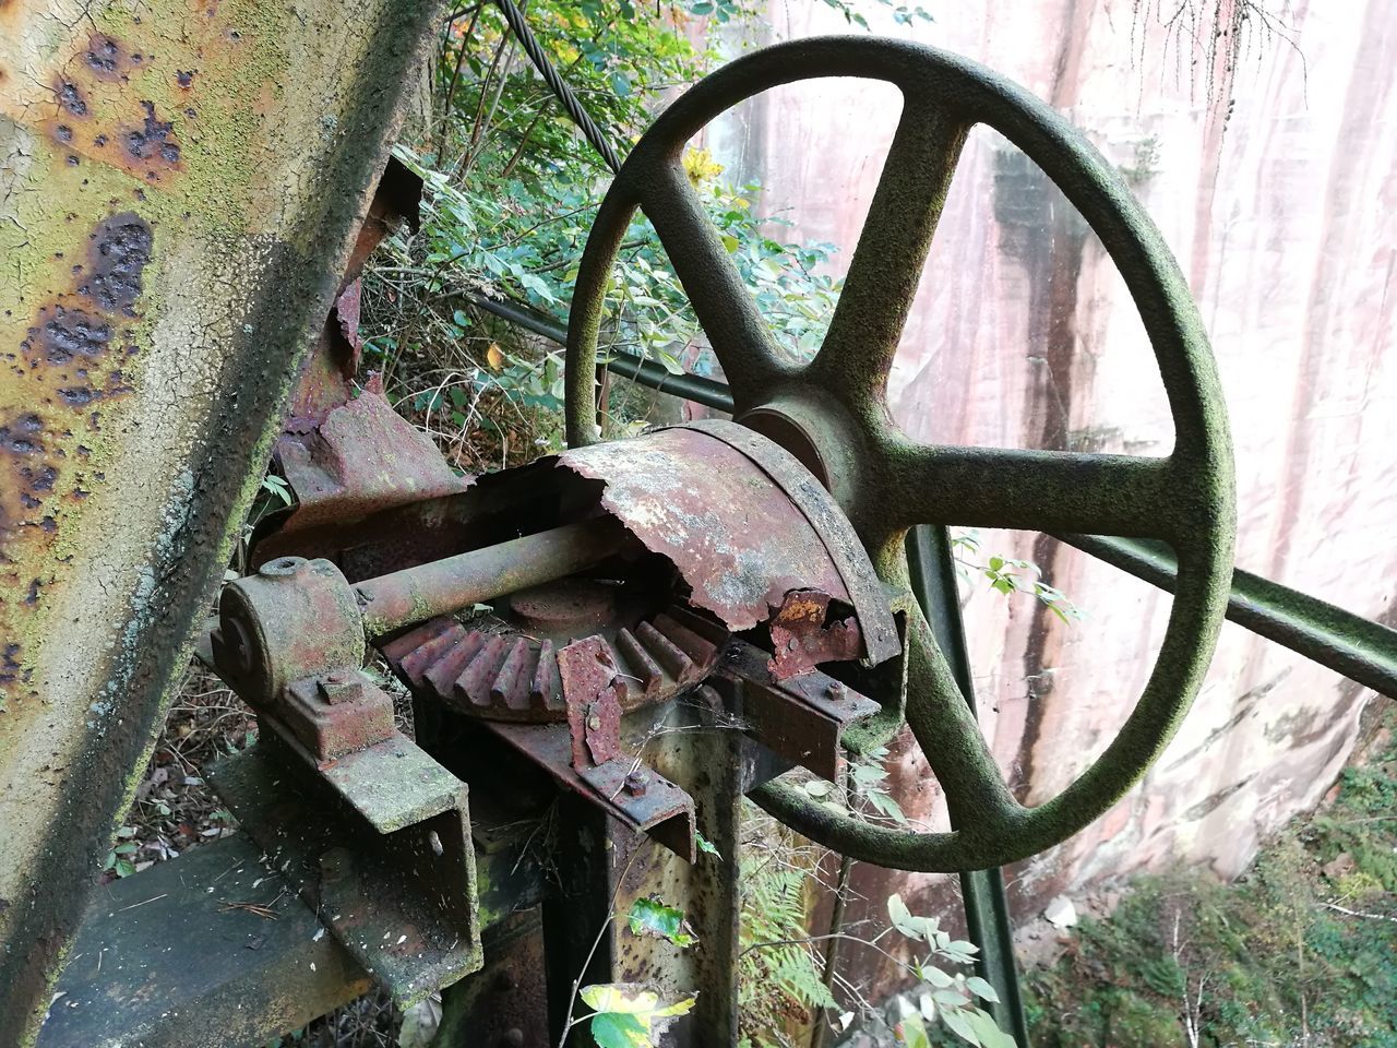
[[[1122,168],[1178,256],[1228,397],[1238,563],[1393,622],[1397,8],[1302,1],[1274,21],[1236,21],[1242,3],[1204,0],[1166,22],[1157,4],[1130,0],[932,7],[935,24],[888,29],[974,57],[1063,112]],[[1187,8],[1201,10],[1189,21]],[[774,4],[773,17],[782,38],[842,31],[823,4]],[[898,115],[893,88],[806,82],[747,103],[708,144],[729,173],[761,179],[767,212],[840,243],[847,265]],[[890,400],[900,425],[929,442],[1172,446],[1143,324],[1101,245],[985,129],[963,155]],[[1125,720],[1169,597],[1038,534],[979,538],[986,556],[1038,563],[1085,612],[1065,625],[1028,597],[967,580],[982,727],[1020,798],[1039,802]],[[1169,752],[1105,819],[1011,872],[1016,911],[1175,861],[1236,875],[1270,829],[1330,785],[1369,697],[1224,627]],[[936,823],[915,750],[898,777],[908,812]],[[875,901],[930,887],[875,873]]]

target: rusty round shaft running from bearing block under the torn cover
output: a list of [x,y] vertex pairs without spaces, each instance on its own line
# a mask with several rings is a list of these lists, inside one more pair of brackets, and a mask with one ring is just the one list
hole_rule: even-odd
[[626,530],[594,517],[536,535],[366,578],[352,587],[370,637],[592,567],[620,549]]

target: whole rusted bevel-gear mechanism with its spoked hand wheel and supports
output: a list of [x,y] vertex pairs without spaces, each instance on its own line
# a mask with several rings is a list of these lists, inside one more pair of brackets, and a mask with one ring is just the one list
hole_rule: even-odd
[[[742,99],[831,75],[893,82],[904,116],[828,337],[795,365],[679,155]],[[890,422],[888,367],[975,123],[1031,157],[1119,265],[1173,412],[1168,458],[925,447]],[[351,277],[394,214],[411,217],[415,189],[390,165]],[[731,383],[679,388],[733,421],[598,443],[602,299],[637,207]],[[342,288],[275,444],[296,506],[260,525],[253,573],[224,587],[197,641],[261,725],[256,746],[212,771],[247,836],[130,878],[120,905],[89,910],[43,1045],[253,1042],[372,982],[400,1003],[450,988],[443,1045],[556,1044],[583,977],[700,989],[675,1035],[733,1042],[743,795],[861,861],[983,871],[1065,840],[1129,789],[1178,727],[1225,615],[1397,692],[1390,630],[1234,576],[1227,421],[1182,275],[1080,134],[964,59],[802,41],[743,57],[671,106],[620,168],[583,257],[562,454],[457,476],[373,381],[352,383],[352,319],[339,319],[353,316],[356,288]],[[1118,738],[1032,809],[1010,795],[975,722],[950,524],[1046,531],[1176,594]],[[366,669],[374,654],[411,692],[414,738]],[[904,724],[951,831],[858,820],[793,785],[840,780],[845,753]],[[700,838],[725,861],[701,861]],[[218,897],[268,882],[305,905],[275,931],[215,919],[208,897],[224,878]],[[992,880],[967,889],[989,893],[968,914],[983,938],[1003,921],[1002,896]],[[613,900],[650,891],[686,910],[696,949],[598,936]],[[193,954],[103,973],[113,943],[172,919],[207,935]],[[986,963],[1000,982],[1011,973],[1002,953]]]

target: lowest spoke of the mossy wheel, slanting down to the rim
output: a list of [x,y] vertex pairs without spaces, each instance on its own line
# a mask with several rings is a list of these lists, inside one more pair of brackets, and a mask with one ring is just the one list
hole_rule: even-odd
[[1018,808],[974,711],[921,612],[907,632],[907,724],[946,792],[951,823],[967,836],[999,827]]

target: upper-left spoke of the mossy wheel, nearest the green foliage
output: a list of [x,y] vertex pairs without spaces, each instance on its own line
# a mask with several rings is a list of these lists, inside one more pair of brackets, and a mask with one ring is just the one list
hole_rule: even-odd
[[678,161],[662,161],[647,173],[638,180],[640,207],[659,233],[740,411],[788,369]]

